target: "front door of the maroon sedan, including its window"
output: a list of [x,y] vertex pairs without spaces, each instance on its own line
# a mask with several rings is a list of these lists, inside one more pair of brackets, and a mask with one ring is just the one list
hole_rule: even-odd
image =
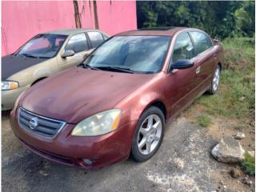
[[[178,59],[191,59],[195,56],[194,45],[188,33],[178,35],[174,43],[174,50],[170,58],[170,66],[174,65]],[[166,100],[171,116],[179,114],[191,100],[194,87],[197,86],[196,70],[193,66],[184,70],[170,70],[166,75]]]

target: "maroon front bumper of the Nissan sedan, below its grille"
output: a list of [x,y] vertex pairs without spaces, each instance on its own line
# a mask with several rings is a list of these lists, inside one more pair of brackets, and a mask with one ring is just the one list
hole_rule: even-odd
[[14,134],[27,149],[52,162],[86,169],[98,169],[129,158],[137,122],[120,126],[109,134],[93,137],[71,136],[73,124],[66,124],[54,138],[42,138],[18,126],[14,110],[10,125]]

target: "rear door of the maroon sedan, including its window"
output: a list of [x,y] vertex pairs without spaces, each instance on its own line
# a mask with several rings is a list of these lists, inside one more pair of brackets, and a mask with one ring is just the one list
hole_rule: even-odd
[[214,72],[216,55],[210,37],[199,31],[191,31],[190,37],[194,43],[196,57],[194,65],[197,66],[196,73],[198,78],[197,91],[202,92],[210,85],[212,74]]

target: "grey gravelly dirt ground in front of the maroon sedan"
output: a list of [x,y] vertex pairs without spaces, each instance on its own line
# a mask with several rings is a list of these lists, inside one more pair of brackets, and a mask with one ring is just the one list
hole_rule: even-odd
[[2,191],[254,191],[254,178],[251,186],[244,185],[244,175],[231,178],[231,166],[211,157],[222,136],[212,134],[216,127],[222,129],[195,125],[186,111],[166,126],[162,146],[149,161],[126,160],[91,171],[30,153],[11,132],[8,114],[2,114]]

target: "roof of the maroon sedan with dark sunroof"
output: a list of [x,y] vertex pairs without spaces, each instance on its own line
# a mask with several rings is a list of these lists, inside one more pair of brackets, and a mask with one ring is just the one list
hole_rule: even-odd
[[164,27],[150,27],[142,28],[138,30],[129,30],[119,34],[117,36],[125,35],[162,35],[162,36],[173,36],[179,30],[190,29],[187,27],[178,27],[178,26],[164,26]]

